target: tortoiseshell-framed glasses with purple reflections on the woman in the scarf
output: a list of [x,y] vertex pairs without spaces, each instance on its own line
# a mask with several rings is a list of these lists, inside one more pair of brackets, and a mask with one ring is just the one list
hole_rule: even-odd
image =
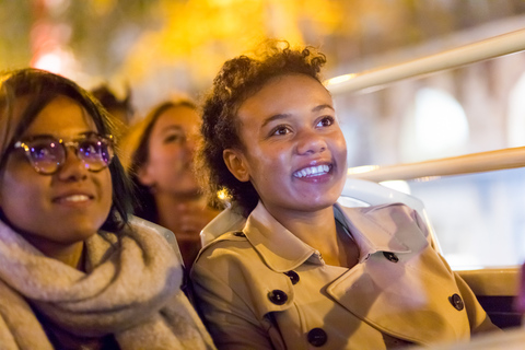
[[85,168],[95,173],[106,168],[115,154],[113,136],[104,137],[94,132],[69,142],[40,135],[18,141],[13,145],[15,150],[24,150],[33,168],[43,175],[51,175],[60,170],[69,148],[74,150]]

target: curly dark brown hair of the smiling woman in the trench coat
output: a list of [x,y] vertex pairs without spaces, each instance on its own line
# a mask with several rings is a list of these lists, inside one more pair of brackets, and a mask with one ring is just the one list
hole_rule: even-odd
[[256,207],[259,196],[252,183],[236,179],[222,158],[225,149],[244,149],[238,137],[238,108],[276,77],[305,74],[322,82],[319,71],[325,62],[325,56],[313,47],[291,49],[287,42],[269,42],[256,57],[240,56],[222,66],[203,102],[197,159],[197,173],[210,201],[225,191],[244,215]]

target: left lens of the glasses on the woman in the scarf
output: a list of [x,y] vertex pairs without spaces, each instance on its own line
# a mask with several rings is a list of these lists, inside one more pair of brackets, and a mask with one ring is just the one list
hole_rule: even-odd
[[35,140],[28,148],[33,166],[43,174],[56,172],[66,156],[61,144],[52,140]]

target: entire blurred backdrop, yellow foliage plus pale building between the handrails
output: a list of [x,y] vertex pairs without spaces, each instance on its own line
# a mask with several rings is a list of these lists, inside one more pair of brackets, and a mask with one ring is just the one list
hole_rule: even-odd
[[[0,0],[0,69],[129,89],[136,119],[174,92],[199,98],[224,60],[265,38],[319,47],[325,78],[525,28],[525,0]],[[334,95],[350,166],[525,145],[525,54]],[[522,170],[406,184],[453,265],[525,259]]]

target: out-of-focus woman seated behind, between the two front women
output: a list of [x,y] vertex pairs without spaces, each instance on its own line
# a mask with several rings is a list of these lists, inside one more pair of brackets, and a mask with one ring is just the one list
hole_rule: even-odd
[[200,231],[219,213],[192,171],[199,126],[195,103],[174,98],[131,127],[122,144],[138,197],[135,213],[175,233],[188,269],[201,247]]

